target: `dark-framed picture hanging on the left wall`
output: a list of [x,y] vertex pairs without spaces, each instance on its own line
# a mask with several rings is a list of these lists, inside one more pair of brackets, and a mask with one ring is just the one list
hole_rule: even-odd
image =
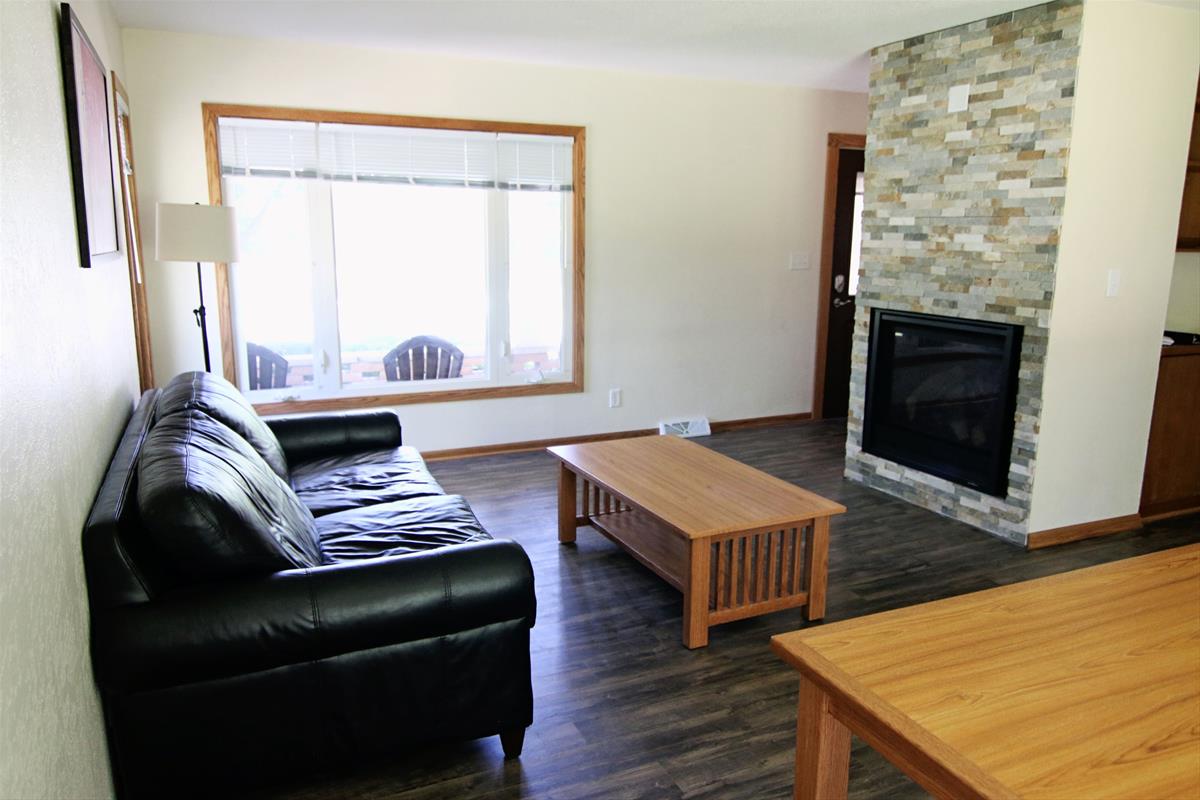
[[61,4],[59,49],[71,149],[79,266],[95,255],[118,252],[116,192],[108,116],[108,71],[83,24]]

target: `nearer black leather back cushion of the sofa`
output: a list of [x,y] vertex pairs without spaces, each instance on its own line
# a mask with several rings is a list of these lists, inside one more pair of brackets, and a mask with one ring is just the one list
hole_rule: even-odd
[[155,423],[138,459],[151,543],[197,579],[322,563],[312,513],[240,435],[185,409]]

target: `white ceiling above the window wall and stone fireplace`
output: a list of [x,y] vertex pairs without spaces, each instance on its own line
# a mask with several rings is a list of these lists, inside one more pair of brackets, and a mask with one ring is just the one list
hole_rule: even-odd
[[114,0],[125,28],[866,91],[866,52],[1030,0]]

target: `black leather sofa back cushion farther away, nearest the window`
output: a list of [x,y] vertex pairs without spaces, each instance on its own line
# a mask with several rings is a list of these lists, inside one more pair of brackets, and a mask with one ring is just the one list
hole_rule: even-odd
[[258,416],[246,396],[224,378],[208,372],[182,372],[167,384],[158,396],[157,417],[196,409],[233,429],[250,443],[275,474],[287,480],[288,459],[280,440]]

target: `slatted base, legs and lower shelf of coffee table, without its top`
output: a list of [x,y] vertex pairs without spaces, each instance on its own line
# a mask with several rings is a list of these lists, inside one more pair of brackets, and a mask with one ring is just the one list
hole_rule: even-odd
[[[575,477],[570,495],[575,498]],[[604,486],[583,481],[580,507],[560,507],[559,541],[590,525],[683,593],[683,643],[708,644],[708,628],[722,622],[805,607],[806,619],[824,615],[828,518],[798,519],[769,528],[703,537],[680,534]]]

